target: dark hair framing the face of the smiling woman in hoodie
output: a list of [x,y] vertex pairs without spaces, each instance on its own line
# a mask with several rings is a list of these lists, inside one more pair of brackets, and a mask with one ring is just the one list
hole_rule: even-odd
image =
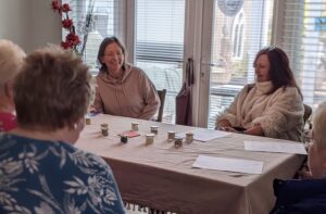
[[125,48],[125,46],[116,37],[106,37],[101,42],[100,48],[99,48],[99,52],[98,52],[98,62],[101,64],[100,72],[109,72],[106,65],[104,63],[102,63],[102,58],[105,54],[105,48],[110,43],[116,43],[121,48],[121,50],[123,52],[123,55],[124,55],[124,61],[123,61],[122,68],[125,70],[126,68],[126,48]]

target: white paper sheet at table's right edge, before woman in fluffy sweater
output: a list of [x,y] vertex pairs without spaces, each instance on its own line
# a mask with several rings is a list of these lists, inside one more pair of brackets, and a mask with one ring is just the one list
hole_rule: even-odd
[[281,152],[290,154],[306,154],[303,143],[300,142],[259,142],[243,141],[244,150],[262,152]]

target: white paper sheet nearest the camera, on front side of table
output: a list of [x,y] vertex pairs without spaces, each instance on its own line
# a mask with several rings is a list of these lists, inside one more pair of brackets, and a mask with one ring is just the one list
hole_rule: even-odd
[[227,159],[199,155],[192,167],[228,171],[248,174],[262,174],[264,163],[243,159]]

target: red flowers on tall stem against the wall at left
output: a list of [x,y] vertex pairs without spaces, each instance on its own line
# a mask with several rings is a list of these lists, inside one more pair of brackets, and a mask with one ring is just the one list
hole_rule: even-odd
[[80,39],[78,35],[76,35],[74,22],[72,18],[70,18],[68,15],[70,11],[72,11],[70,4],[64,3],[61,5],[59,3],[59,0],[53,0],[52,9],[62,17],[62,27],[68,32],[65,40],[61,41],[61,47],[64,49],[72,49],[74,51],[77,51],[77,46],[80,43]]

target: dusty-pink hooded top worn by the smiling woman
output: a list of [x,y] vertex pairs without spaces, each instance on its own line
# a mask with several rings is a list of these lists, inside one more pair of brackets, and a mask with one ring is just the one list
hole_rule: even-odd
[[155,86],[140,68],[126,64],[122,79],[97,76],[93,108],[104,114],[151,119],[160,108]]

